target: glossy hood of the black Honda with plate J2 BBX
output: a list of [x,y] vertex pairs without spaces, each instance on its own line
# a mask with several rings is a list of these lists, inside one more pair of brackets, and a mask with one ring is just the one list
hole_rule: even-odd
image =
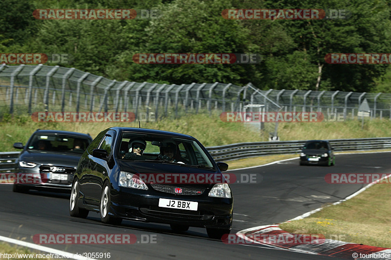
[[[121,171],[126,171],[136,174],[208,174],[216,176],[217,179],[214,180],[224,180],[222,173],[213,169],[203,169],[196,167],[184,166],[184,164],[172,164],[172,163],[162,163],[162,162],[145,162],[145,161],[124,161],[121,160],[118,163]],[[217,183],[217,182],[216,182]],[[196,186],[196,187],[210,187],[215,183],[164,183],[164,184],[173,184],[180,186]]]

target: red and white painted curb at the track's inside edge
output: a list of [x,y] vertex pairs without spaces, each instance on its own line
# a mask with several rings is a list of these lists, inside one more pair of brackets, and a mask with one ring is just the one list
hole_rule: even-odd
[[[267,240],[257,240],[261,235],[275,235],[279,237],[297,236],[297,234],[289,233],[282,230],[278,224],[252,227],[241,230],[237,233],[238,236],[249,240],[252,243],[260,243],[275,247],[285,248],[297,252],[325,255],[346,259],[390,259],[391,249],[384,247],[369,246],[356,243],[348,243],[338,240],[322,239],[321,243],[269,243]],[[373,257],[369,258],[369,255]],[[360,256],[362,256],[360,258]]]

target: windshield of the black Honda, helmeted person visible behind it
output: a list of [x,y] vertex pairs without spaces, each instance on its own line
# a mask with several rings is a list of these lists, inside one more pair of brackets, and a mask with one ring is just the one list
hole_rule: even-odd
[[213,168],[211,160],[194,140],[125,132],[118,146],[117,156],[123,160],[154,160]]

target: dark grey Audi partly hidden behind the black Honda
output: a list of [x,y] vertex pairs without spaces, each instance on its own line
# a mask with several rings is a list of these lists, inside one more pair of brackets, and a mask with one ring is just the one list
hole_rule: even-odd
[[69,192],[76,166],[92,138],[88,134],[59,130],[37,129],[16,162],[17,178],[14,192],[50,190]]

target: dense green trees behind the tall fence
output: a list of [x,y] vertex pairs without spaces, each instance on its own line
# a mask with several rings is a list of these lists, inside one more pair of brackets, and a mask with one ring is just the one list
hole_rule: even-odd
[[[39,8],[157,9],[159,19],[36,20]],[[226,20],[230,8],[347,9],[349,19]],[[328,64],[327,53],[390,53],[389,0],[2,0],[1,53],[68,53],[109,79],[261,89],[391,92],[391,69]],[[135,53],[258,53],[259,64],[137,64]]]

